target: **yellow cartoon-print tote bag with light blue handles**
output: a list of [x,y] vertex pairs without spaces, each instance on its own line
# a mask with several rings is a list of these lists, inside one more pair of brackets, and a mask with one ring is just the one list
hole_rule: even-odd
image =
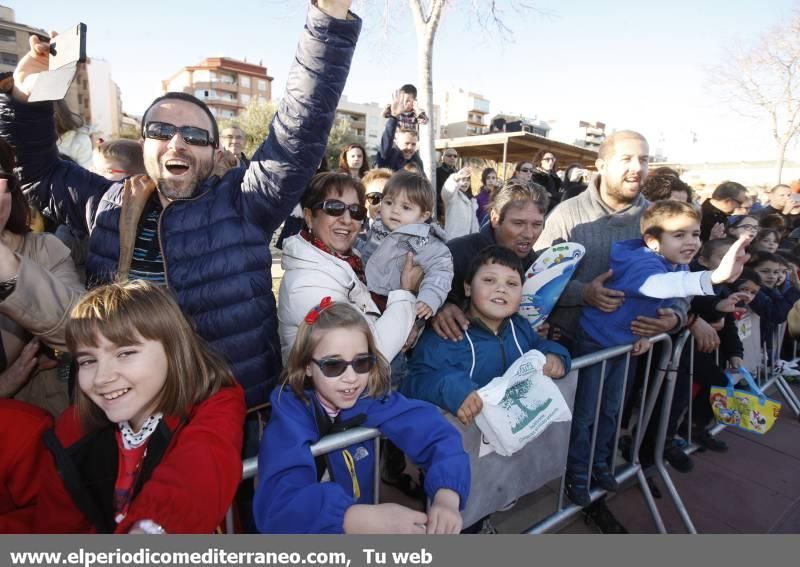
[[714,386],[711,388],[711,408],[718,423],[733,425],[764,434],[769,431],[778,419],[781,412],[781,403],[768,398],[756,385],[750,372],[743,367],[736,370],[742,376],[750,390],[736,390],[733,385],[735,380],[730,370],[725,371],[728,386]]

